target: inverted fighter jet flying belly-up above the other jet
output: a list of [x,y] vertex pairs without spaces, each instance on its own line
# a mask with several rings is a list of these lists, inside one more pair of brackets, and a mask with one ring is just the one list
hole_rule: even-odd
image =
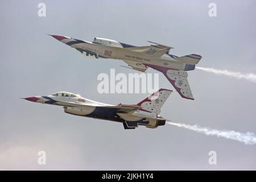
[[200,55],[175,56],[170,54],[170,46],[150,42],[151,46],[131,46],[115,40],[94,38],[93,42],[51,35],[60,42],[77,49],[92,58],[123,60],[129,67],[145,72],[147,68],[162,72],[181,97],[194,100],[188,84],[188,73],[202,58]]

